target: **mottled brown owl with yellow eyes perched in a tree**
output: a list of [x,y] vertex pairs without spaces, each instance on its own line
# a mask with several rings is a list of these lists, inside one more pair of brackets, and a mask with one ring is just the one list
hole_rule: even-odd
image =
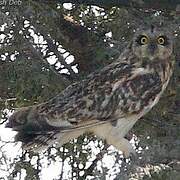
[[40,152],[92,132],[135,153],[125,135],[158,103],[173,72],[171,36],[156,27],[139,30],[117,60],[68,86],[42,104],[15,112],[6,127],[26,150]]

